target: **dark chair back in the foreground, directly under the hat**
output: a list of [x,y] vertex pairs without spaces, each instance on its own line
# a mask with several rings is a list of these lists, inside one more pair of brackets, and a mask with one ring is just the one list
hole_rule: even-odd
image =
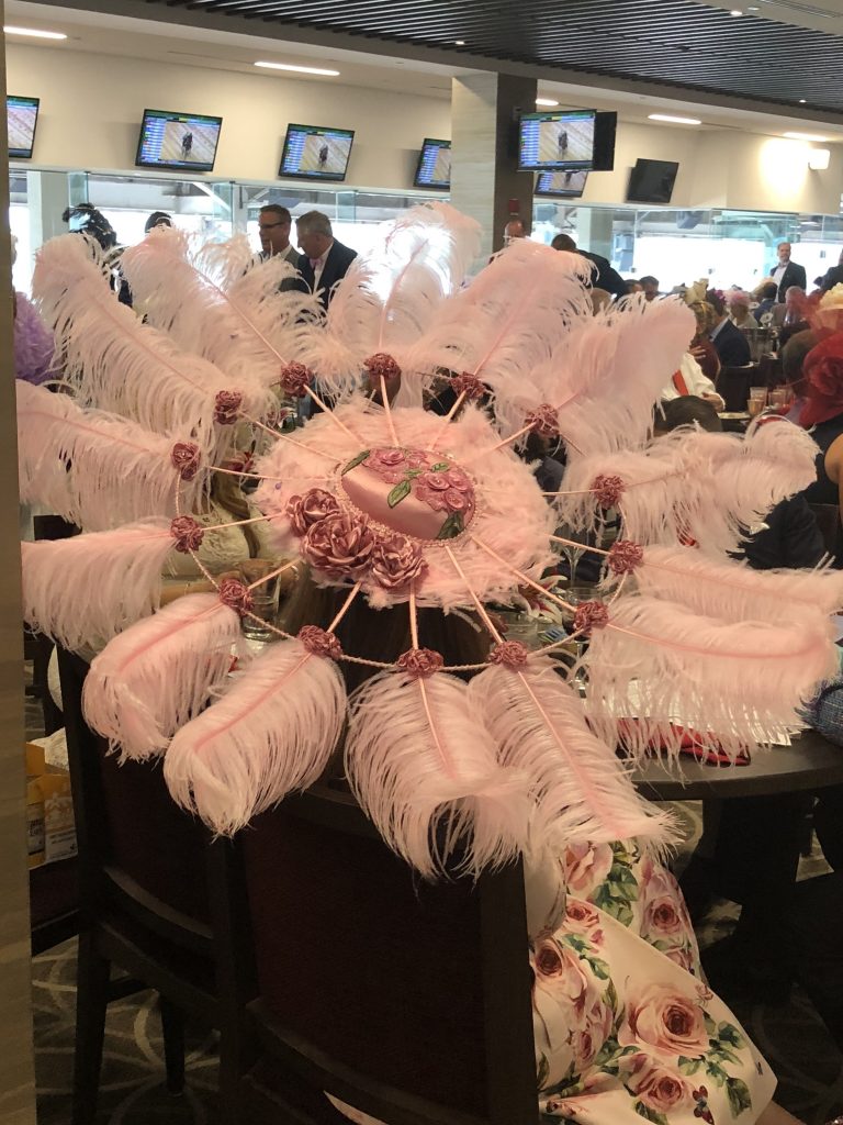
[[327,788],[259,817],[229,856],[273,1062],[389,1125],[535,1125],[520,866],[423,882]]

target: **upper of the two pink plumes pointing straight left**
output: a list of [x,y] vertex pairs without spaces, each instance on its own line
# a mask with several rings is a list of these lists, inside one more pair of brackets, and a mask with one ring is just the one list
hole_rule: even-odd
[[206,474],[180,482],[174,438],[148,433],[66,395],[18,386],[18,472],[26,503],[48,505],[87,531],[175,514],[176,485],[188,510]]

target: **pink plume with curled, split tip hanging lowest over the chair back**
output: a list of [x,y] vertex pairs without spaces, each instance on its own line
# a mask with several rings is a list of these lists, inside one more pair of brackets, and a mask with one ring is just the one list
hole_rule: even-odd
[[387,672],[351,701],[345,768],[389,846],[430,879],[459,857],[474,875],[526,847],[525,777],[502,767],[468,686]]

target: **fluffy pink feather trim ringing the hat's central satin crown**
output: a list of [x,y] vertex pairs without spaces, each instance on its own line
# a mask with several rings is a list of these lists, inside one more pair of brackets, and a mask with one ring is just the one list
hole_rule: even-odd
[[[291,496],[301,494],[307,487],[323,487],[342,498],[344,494],[336,471],[365,449],[393,444],[387,416],[380,407],[354,399],[335,413],[356,438],[343,433],[328,417],[320,415],[297,434],[298,444],[279,442],[257,466],[257,471],[270,479],[259,489],[256,502],[261,511],[273,516],[279,549],[289,549],[298,542],[285,518]],[[468,533],[424,543],[428,569],[417,590],[419,605],[438,605],[447,610],[471,602],[465,582],[447,557],[448,549],[459,559],[466,580],[481,600],[511,601],[518,578],[504,570],[471,537],[504,556],[515,569],[538,580],[554,560],[550,549],[553,511],[544,502],[529,468],[511,450],[502,448],[477,456],[478,450],[495,444],[497,438],[484,413],[470,406],[457,421],[444,424],[441,417],[426,411],[402,408],[392,411],[392,423],[400,446],[430,449],[438,440],[437,450],[443,457],[462,467],[471,462],[469,471],[474,482],[477,512]],[[323,452],[316,454],[309,448]],[[326,450],[333,450],[333,462],[324,456]],[[310,476],[317,477],[312,485],[302,484],[301,478]],[[318,579],[318,575],[316,577]],[[387,592],[366,585],[365,592],[375,608],[407,600],[406,591]]]

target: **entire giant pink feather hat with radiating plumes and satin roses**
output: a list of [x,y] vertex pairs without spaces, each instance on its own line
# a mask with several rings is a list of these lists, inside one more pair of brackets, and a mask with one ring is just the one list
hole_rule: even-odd
[[[593,316],[588,262],[526,240],[465,286],[478,228],[446,205],[386,227],[327,316],[280,291],[290,268],[251,261],[242,241],[194,250],[161,230],[123,260],[140,323],[80,244],[39,254],[36,294],[78,396],[20,388],[20,476],[25,498],[90,530],[24,544],[26,616],[72,647],[106,642],[88,721],[126,757],[163,755],[175,800],[215,830],[315,782],[346,728],[359,801],[424,875],[457,842],[474,873],[565,842],[664,842],[667,818],[616,756],[619,726],[633,754],[676,750],[677,718],[736,753],[792,722],[832,672],[843,577],[752,572],[728,555],[813,480],[810,438],[780,422],[650,442],[695,328],[680,302]],[[443,377],[447,416],[425,408]],[[279,394],[323,412],[279,432]],[[291,556],[279,572],[303,559],[345,596],[327,628],[270,623],[278,644],[233,675],[252,588],[212,579],[216,593],[158,598],[171,552],[201,566],[191,513],[244,428],[260,447],[261,519]],[[517,456],[531,433],[565,443],[559,493]],[[590,639],[582,699],[556,646],[507,640],[487,605],[533,587],[565,606],[542,585],[554,528],[592,529],[610,507],[622,534],[600,588],[568,606]],[[411,644],[397,660],[343,650],[355,598],[404,608]],[[473,612],[488,658],[455,668],[419,647],[419,606]],[[372,666],[351,698],[343,662]]]

